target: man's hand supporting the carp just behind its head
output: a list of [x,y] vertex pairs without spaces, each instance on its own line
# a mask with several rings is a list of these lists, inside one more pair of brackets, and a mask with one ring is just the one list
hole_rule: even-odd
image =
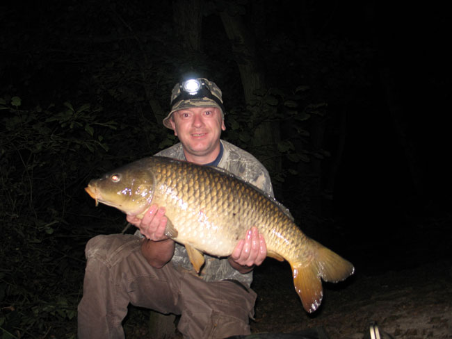
[[154,204],[143,215],[143,219],[140,220],[134,215],[127,215],[127,221],[135,225],[147,239],[153,241],[166,240],[168,237],[165,235],[165,229],[168,220],[165,212],[164,207],[159,208]]

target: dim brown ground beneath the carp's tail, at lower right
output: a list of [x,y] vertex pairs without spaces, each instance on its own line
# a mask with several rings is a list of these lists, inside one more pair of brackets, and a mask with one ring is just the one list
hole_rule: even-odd
[[[452,338],[450,262],[424,263],[375,275],[357,270],[339,286],[324,284],[322,306],[312,315],[300,308],[284,268],[289,270],[272,265],[274,272],[257,274],[254,333],[321,326],[331,339],[362,339],[369,322],[375,321],[394,338]],[[277,281],[261,279],[267,274],[277,276]]]

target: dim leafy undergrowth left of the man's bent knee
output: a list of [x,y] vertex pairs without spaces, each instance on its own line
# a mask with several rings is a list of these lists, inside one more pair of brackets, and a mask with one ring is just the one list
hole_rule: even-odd
[[19,97],[0,98],[3,338],[33,337],[49,323],[74,319],[79,291],[65,288],[83,252],[70,245],[79,237],[70,222],[79,192],[108,151],[104,135],[117,129],[89,104],[23,106]]

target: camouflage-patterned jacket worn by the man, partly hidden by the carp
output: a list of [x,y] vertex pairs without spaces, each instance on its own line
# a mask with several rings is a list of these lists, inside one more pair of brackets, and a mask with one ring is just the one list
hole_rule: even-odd
[[[259,163],[254,156],[247,151],[243,151],[233,144],[221,140],[223,144],[223,156],[218,163],[218,167],[226,169],[228,172],[235,174],[239,178],[248,183],[255,185],[266,194],[273,197],[273,188],[271,185],[270,176],[264,165]],[[168,149],[163,149],[156,156],[167,156],[168,158],[176,158],[185,160],[184,150],[182,144],[178,143]],[[252,272],[241,274],[234,270],[227,258],[217,258],[204,254],[205,264],[200,272],[200,277],[205,281],[218,281],[223,279],[234,279],[240,281],[245,286],[250,286],[252,282]],[[188,259],[186,249],[183,245],[176,243],[175,254],[171,259],[172,265],[178,270],[188,270],[195,273],[193,267]]]

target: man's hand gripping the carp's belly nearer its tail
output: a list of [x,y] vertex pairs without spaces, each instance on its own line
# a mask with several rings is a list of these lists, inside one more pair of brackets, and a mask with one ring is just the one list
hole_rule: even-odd
[[257,227],[252,227],[245,239],[239,240],[231,256],[229,264],[241,273],[247,273],[254,266],[259,266],[267,256],[267,247],[264,235],[261,235]]

